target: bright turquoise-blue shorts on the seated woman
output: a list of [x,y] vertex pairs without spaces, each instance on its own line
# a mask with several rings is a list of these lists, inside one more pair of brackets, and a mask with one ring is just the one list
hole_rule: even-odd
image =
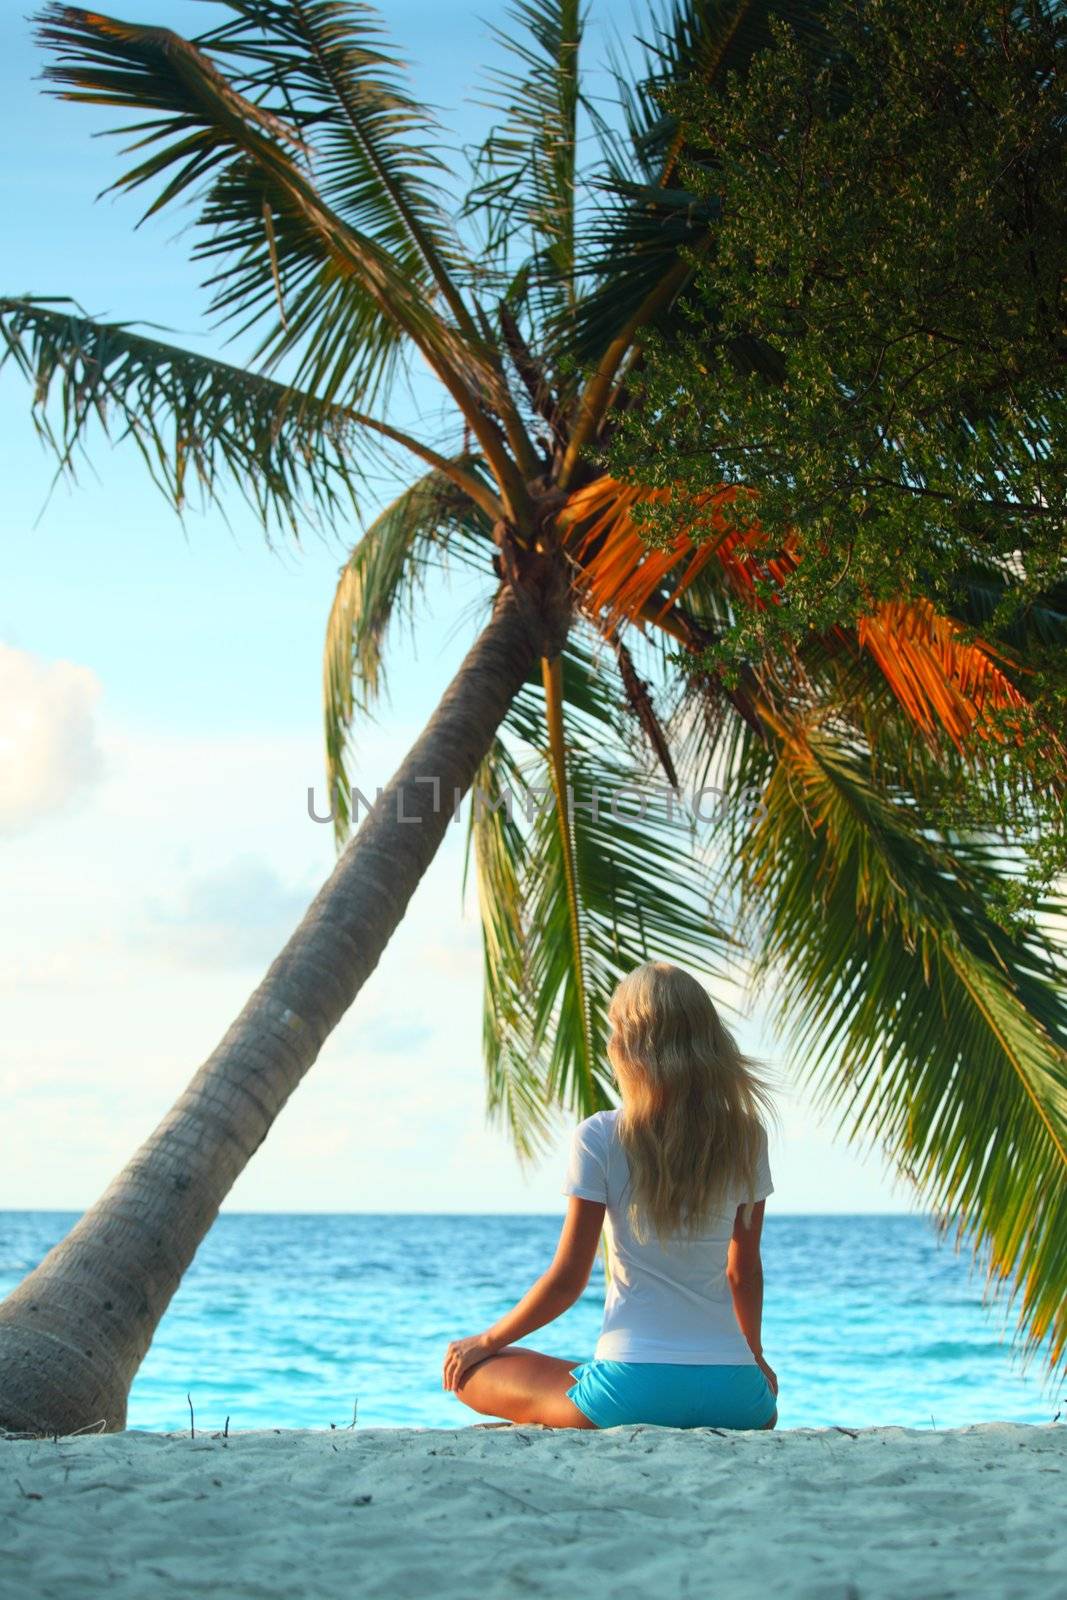
[[681,1362],[581,1362],[569,1400],[597,1427],[657,1422],[661,1427],[765,1427],[777,1410],[755,1365],[688,1366]]

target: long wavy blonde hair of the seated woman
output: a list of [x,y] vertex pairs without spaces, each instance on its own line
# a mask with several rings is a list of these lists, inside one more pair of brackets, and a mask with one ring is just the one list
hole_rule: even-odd
[[[681,966],[646,962],[608,1005],[608,1059],[622,1091],[617,1131],[630,1166],[630,1227],[645,1242],[693,1238],[737,1189],[752,1194],[768,1085]],[[744,1226],[753,1202],[744,1202]]]

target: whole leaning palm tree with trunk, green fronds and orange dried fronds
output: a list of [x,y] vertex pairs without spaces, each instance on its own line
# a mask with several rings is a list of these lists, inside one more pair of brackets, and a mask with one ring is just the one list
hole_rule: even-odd
[[[357,450],[397,446],[419,477],[357,542],[330,616],[338,864],[176,1106],[0,1306],[0,1426],[125,1426],[200,1240],[472,786],[490,802],[469,832],[488,1101],[523,1160],[553,1112],[611,1104],[616,978],[651,954],[713,971],[741,930],[757,976],[774,976],[781,1024],[809,1046],[809,1074],[848,1099],[849,1136],[880,1138],[917,1192],[955,1210],[992,1248],[990,1272],[1022,1283],[1030,1344],[1051,1328],[1051,1358],[1062,1354],[1056,952],[990,914],[1008,867],[989,845],[928,814],[945,773],[993,765],[992,710],[1030,715],[1025,638],[1008,659],[965,630],[973,618],[883,608],[790,659],[753,661],[733,685],[678,672],[678,651],[713,638],[734,606],[765,603],[753,574],[787,579],[787,562],[731,520],[739,490],[725,485],[691,506],[672,549],[646,549],[640,488],[600,464],[645,330],[675,315],[693,253],[713,240],[713,218],[670,186],[678,136],[656,82],[744,69],[769,42],[771,10],[675,0],[645,77],[621,78],[613,126],[584,94],[576,0],[518,0],[515,70],[496,85],[499,122],[454,222],[430,117],[400,88],[368,8],[229,0],[230,19],[195,40],[74,6],[42,13],[46,75],[66,98],[141,118],[118,187],[155,184],[149,211],[194,202],[213,307],[258,338],[238,368],[70,302],[0,301],[5,358],[30,379],[61,462],[93,419],[118,422],[179,509],[192,474],[208,499],[237,483],[267,528],[293,530],[346,514]],[[589,171],[579,117],[598,141]],[[448,443],[387,421],[413,360],[445,389]],[[488,616],[346,843],[349,734],[381,688],[390,618],[440,554],[486,573]],[[990,584],[974,574],[974,608]],[[1049,600],[1041,626],[1067,634],[1067,608]],[[677,814],[616,814],[609,798],[646,770],[638,738],[665,787],[715,776],[728,789],[709,838]],[[555,805],[517,818],[507,792],[531,778]],[[728,915],[709,907],[720,846]]]

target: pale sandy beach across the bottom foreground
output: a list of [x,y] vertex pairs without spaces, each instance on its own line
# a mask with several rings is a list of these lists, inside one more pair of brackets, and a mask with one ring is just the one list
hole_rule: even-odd
[[0,1442],[3,1600],[1067,1595],[1067,1427]]

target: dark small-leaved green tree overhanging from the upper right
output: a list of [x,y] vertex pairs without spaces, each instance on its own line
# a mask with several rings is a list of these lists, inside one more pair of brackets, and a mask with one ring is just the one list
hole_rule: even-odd
[[[833,0],[726,83],[667,85],[678,182],[715,218],[685,314],[645,349],[616,474],[749,485],[755,595],[704,664],[921,600],[1027,675],[947,824],[1067,872],[1067,18],[1014,0]],[[789,581],[766,568],[777,560]],[[979,730],[974,730],[979,739]]]

